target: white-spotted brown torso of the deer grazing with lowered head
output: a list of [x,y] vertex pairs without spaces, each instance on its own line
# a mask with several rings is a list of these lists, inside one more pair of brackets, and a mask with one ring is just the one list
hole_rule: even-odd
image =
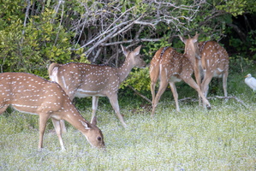
[[33,74],[0,74],[0,87],[0,106],[12,104],[17,110],[33,114],[76,112],[60,85]]

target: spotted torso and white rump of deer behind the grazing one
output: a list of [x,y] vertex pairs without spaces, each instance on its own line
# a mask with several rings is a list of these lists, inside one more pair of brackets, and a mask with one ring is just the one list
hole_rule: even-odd
[[118,90],[120,80],[116,68],[87,63],[52,63],[51,80],[57,81],[73,99],[86,96],[104,96]]

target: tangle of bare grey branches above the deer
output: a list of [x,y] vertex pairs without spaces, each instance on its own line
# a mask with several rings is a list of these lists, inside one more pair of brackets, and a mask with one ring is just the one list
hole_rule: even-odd
[[[77,20],[72,21],[71,31],[77,32],[75,42],[80,43],[80,48],[85,49],[84,54],[89,60],[96,61],[99,56],[103,56],[98,53],[99,48],[104,48],[102,51],[105,58],[116,54],[115,49],[109,47],[111,45],[161,41],[159,35],[163,33],[158,34],[161,32],[157,30],[158,26],[167,26],[170,32],[178,32],[182,35],[193,32],[190,25],[199,14],[199,9],[205,7],[206,1],[194,0],[186,5],[160,0],[142,0],[139,4],[134,2],[126,4],[118,0],[80,3],[84,13],[78,14]],[[139,6],[143,4],[148,5],[141,12]],[[217,12],[213,15],[220,14]],[[211,16],[205,20],[211,20]]]

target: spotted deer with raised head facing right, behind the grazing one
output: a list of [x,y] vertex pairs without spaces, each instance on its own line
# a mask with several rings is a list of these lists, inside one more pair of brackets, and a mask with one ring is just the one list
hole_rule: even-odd
[[117,91],[132,68],[144,68],[146,62],[140,58],[141,45],[133,51],[128,51],[122,45],[121,47],[126,56],[121,68],[74,62],[66,64],[51,63],[48,72],[50,79],[61,85],[71,100],[74,97],[92,97],[92,119],[95,117],[98,108],[98,97],[109,97],[116,115],[122,122],[122,126],[127,127],[120,114]]

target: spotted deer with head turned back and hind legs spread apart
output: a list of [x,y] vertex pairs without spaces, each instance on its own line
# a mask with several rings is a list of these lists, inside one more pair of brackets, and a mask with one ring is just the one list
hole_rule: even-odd
[[[170,84],[171,91],[175,98],[176,110],[180,111],[178,103],[178,94],[176,91],[176,82],[184,80],[188,85],[198,91],[199,95],[203,98],[207,108],[211,109],[211,104],[204,97],[199,85],[193,80],[193,61],[195,56],[199,56],[198,49],[198,34],[193,38],[184,39],[186,44],[184,54],[176,52],[171,47],[165,47],[158,50],[153,56],[150,63],[150,78],[151,78],[151,91],[152,91],[152,115],[154,115],[158,101],[164,93],[168,83]],[[155,96],[155,85],[157,80],[160,80],[158,93]]]

